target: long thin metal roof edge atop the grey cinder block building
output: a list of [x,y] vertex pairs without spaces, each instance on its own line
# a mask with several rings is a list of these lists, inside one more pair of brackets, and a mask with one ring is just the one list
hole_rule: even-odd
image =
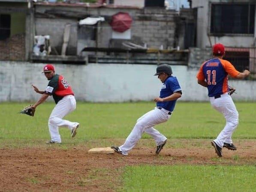
[[136,6],[115,6],[113,4],[99,4],[99,3],[38,2],[34,4],[43,5],[43,6],[90,7],[90,8],[107,7],[107,8],[113,8],[113,9],[117,9],[117,8],[118,9],[142,9],[141,7],[136,7]]

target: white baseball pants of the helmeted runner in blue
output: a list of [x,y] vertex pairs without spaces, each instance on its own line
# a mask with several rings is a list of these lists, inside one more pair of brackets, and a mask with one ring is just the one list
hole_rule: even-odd
[[141,116],[136,125],[134,126],[130,135],[126,138],[126,141],[119,147],[123,155],[128,155],[130,151],[139,139],[142,137],[142,134],[146,132],[151,135],[157,145],[163,144],[167,139],[163,134],[154,129],[154,125],[166,122],[171,115],[168,115],[169,111],[165,109],[155,108],[154,110],[149,111],[145,115]]

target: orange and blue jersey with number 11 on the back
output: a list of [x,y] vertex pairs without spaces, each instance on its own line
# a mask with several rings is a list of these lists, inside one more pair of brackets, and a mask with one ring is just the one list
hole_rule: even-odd
[[226,60],[220,58],[212,58],[205,61],[197,74],[197,79],[207,82],[208,96],[217,96],[227,93],[228,87],[228,75],[235,77],[240,72]]

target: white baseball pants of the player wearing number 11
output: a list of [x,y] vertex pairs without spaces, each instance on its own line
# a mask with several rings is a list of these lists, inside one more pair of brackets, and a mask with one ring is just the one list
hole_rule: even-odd
[[238,125],[238,111],[228,93],[224,93],[217,99],[210,97],[210,102],[213,108],[222,113],[226,119],[224,129],[220,132],[216,140],[214,140],[222,148],[224,143],[233,143],[231,137]]

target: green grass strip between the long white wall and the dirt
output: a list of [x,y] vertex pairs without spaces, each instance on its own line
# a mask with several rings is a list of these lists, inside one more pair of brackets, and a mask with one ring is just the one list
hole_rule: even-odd
[[[18,114],[27,103],[1,103],[0,138],[6,139],[48,139],[48,116],[53,103],[44,103],[36,109],[34,117]],[[239,125],[233,138],[256,139],[256,103],[236,103]],[[136,120],[154,108],[153,102],[138,103],[81,103],[66,116],[81,124],[76,140],[105,138],[126,138]],[[12,120],[10,120],[12,119]],[[211,108],[209,103],[178,102],[175,112],[166,123],[157,129],[168,138],[209,138],[213,139],[223,129],[225,119]],[[70,140],[70,133],[60,128],[63,142]],[[36,136],[36,137],[35,137]],[[143,138],[148,138],[147,135]]]

